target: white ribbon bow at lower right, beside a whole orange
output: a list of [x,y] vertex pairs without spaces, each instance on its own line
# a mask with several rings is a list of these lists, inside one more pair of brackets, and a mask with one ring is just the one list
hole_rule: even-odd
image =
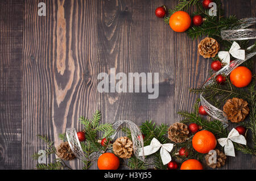
[[236,129],[232,129],[232,131],[229,132],[229,135],[227,138],[220,138],[218,139],[218,143],[224,147],[225,154],[231,157],[236,157],[234,153],[234,145],[233,142],[237,142],[238,144],[246,145],[245,137],[239,134],[239,132]]

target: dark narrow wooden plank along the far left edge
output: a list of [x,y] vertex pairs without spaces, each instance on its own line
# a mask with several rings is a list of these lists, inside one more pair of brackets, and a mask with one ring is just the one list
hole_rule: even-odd
[[21,169],[22,1],[0,2],[0,169]]

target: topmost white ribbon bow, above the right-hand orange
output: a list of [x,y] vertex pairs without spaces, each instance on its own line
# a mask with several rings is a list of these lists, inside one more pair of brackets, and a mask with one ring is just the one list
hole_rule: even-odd
[[222,63],[226,63],[226,64],[230,63],[230,54],[237,59],[245,60],[245,50],[241,50],[240,48],[241,48],[240,45],[238,45],[238,43],[234,41],[230,50],[228,52],[227,51],[218,52],[218,57],[220,58]]

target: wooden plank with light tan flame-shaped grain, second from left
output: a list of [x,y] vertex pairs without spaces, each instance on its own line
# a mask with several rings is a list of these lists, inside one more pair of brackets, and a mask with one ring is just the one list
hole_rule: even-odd
[[[37,15],[39,2],[46,3],[46,16]],[[96,63],[95,6],[95,1],[25,2],[23,142],[28,144],[22,148],[23,169],[34,169],[31,154],[43,148],[36,134],[58,145],[58,134],[80,128],[79,116],[90,116],[84,112],[91,114],[100,103],[90,65]]]

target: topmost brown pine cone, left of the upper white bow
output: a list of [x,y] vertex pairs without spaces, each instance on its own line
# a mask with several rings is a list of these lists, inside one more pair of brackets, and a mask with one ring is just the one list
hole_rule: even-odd
[[204,58],[210,58],[210,57],[213,58],[218,53],[218,50],[220,50],[220,46],[218,45],[218,42],[211,37],[206,37],[205,39],[201,40],[200,44],[197,47],[198,47],[199,53]]

